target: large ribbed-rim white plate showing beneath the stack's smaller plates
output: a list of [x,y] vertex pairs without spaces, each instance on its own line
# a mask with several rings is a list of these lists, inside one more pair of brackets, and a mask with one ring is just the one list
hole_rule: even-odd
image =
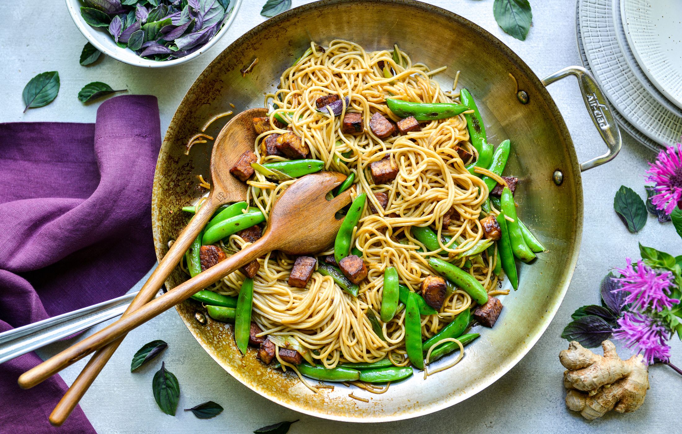
[[682,135],[682,117],[644,88],[624,60],[612,20],[612,0],[579,0],[578,20],[589,66],[611,104],[649,139],[666,145]]

